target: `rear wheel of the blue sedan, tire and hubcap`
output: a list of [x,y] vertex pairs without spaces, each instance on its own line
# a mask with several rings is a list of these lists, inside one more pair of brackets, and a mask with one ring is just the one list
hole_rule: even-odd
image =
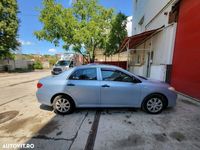
[[65,95],[58,95],[53,100],[54,112],[61,115],[71,114],[75,105],[72,99]]

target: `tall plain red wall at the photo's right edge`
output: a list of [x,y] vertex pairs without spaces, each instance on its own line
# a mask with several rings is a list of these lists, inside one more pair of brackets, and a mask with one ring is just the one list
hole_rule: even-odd
[[180,1],[171,84],[200,99],[200,1]]

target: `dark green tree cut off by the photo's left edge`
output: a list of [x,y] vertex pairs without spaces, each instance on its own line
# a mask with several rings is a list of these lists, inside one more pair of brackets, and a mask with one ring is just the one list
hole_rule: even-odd
[[0,1],[0,58],[12,57],[11,51],[17,50],[19,19],[16,0]]

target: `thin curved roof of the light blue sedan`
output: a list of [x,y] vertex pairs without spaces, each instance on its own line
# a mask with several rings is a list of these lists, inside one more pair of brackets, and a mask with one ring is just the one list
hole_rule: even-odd
[[114,66],[114,65],[96,64],[96,63],[87,64],[87,65],[81,65],[81,66],[76,66],[75,68],[76,69],[79,69],[79,68],[115,68],[115,69],[122,69],[122,68]]

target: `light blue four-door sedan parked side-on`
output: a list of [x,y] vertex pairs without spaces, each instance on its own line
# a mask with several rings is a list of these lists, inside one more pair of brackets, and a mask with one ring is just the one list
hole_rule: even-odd
[[170,85],[134,75],[110,65],[74,67],[58,76],[39,80],[37,99],[59,114],[83,107],[133,107],[158,114],[176,105]]

